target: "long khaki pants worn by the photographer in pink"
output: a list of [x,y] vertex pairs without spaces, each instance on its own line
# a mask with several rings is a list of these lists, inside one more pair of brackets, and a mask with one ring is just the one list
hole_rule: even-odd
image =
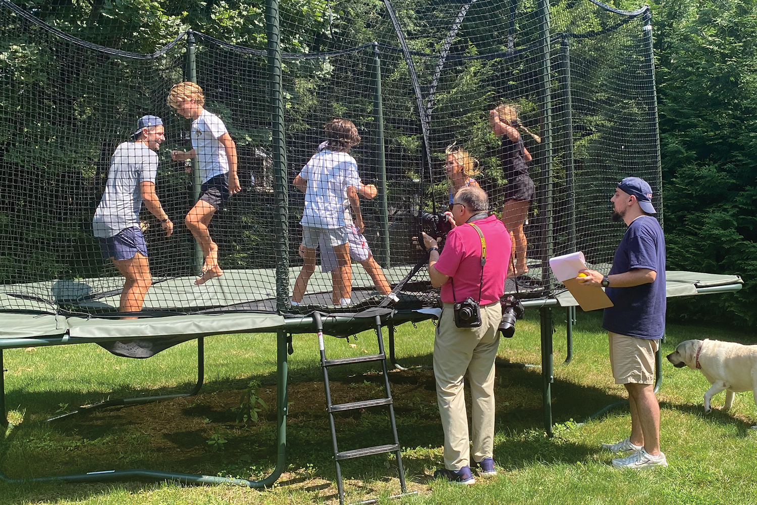
[[500,344],[497,327],[500,302],[481,307],[478,328],[455,326],[453,304],[444,304],[434,341],[436,397],[444,429],[444,466],[459,470],[470,465],[470,438],[463,377],[466,369],[472,397],[473,460],[494,450],[494,358]]

